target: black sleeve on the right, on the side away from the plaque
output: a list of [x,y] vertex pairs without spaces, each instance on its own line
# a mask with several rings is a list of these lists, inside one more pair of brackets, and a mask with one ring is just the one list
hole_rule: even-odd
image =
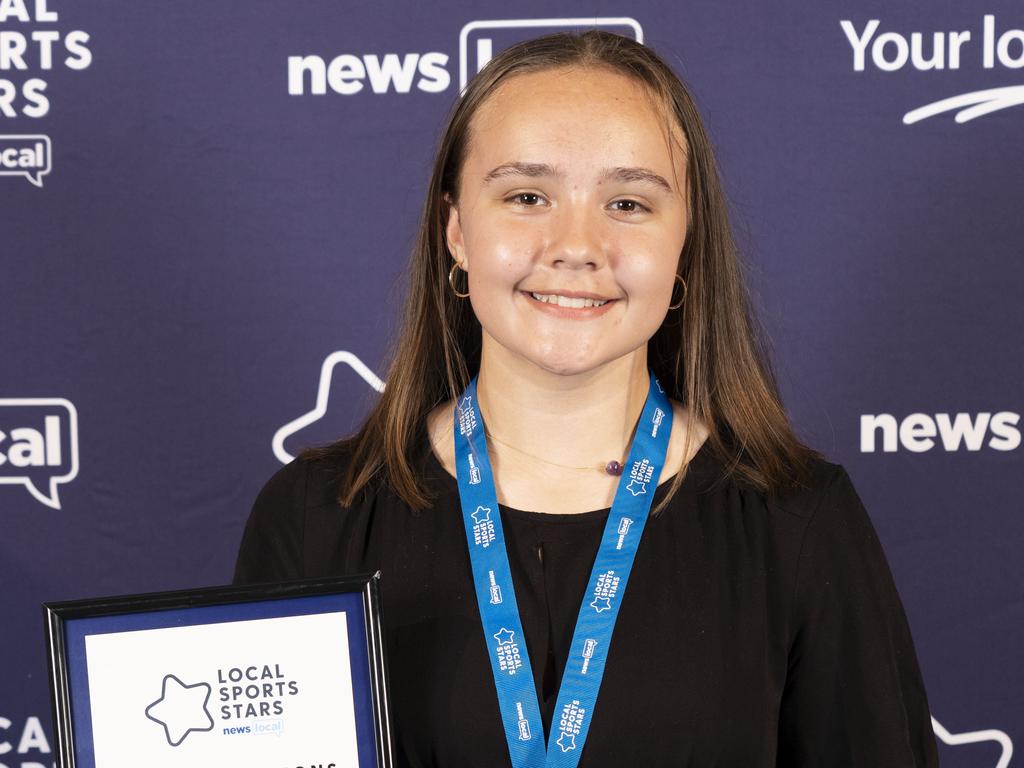
[[843,467],[805,529],[797,567],[776,764],[938,766],[903,605]]

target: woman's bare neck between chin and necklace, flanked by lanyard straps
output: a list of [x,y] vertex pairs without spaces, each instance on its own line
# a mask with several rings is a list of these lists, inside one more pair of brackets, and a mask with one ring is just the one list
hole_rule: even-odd
[[[484,334],[477,398],[487,431],[501,440],[490,451],[524,464],[535,457],[595,470],[625,462],[648,381],[646,347],[593,371],[557,374]],[[508,454],[509,445],[522,455]]]

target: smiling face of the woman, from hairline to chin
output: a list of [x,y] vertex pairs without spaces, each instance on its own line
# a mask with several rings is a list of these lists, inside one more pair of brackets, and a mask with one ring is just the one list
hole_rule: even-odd
[[446,228],[484,350],[569,375],[646,349],[686,236],[683,146],[642,86],[602,68],[518,75],[488,96]]

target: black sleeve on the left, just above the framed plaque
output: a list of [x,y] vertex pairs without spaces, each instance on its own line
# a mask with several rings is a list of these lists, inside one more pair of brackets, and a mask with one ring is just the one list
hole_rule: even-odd
[[301,579],[306,496],[305,462],[279,470],[260,490],[242,535],[232,584]]

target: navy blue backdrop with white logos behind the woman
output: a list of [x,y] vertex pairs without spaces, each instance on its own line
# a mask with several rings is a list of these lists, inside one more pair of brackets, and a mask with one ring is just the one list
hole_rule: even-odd
[[41,601],[226,583],[263,481],[366,413],[462,73],[565,26],[642,37],[692,87],[942,763],[1012,762],[1019,1],[3,0],[0,766],[52,762]]

